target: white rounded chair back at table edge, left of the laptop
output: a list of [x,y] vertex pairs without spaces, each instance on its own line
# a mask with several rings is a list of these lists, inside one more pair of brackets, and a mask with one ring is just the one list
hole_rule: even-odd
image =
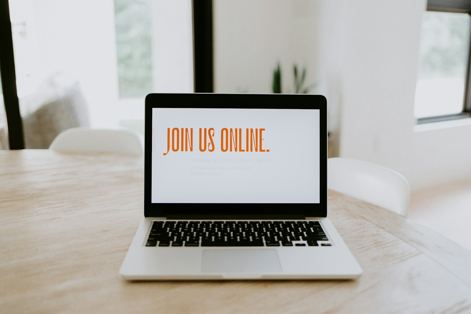
[[143,153],[138,134],[127,129],[67,129],[57,135],[49,149],[66,152]]

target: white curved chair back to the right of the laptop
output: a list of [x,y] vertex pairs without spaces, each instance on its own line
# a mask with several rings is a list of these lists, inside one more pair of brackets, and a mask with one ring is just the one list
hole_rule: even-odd
[[329,158],[327,187],[407,217],[409,184],[392,169],[355,159]]

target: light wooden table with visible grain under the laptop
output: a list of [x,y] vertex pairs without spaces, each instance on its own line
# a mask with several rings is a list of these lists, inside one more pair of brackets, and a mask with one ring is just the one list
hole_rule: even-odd
[[471,313],[471,251],[329,191],[355,281],[126,282],[143,158],[0,151],[0,313]]

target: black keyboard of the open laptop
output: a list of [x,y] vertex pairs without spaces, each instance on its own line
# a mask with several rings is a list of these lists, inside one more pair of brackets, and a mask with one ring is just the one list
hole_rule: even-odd
[[[331,246],[318,221],[154,221],[146,246]],[[294,242],[294,243],[293,243]]]

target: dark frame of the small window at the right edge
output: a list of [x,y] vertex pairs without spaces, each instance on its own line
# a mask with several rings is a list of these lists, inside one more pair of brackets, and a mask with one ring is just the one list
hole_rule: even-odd
[[[427,11],[467,13],[471,16],[471,1],[469,0],[428,0]],[[414,104],[415,105],[415,104]],[[468,64],[461,113],[443,114],[438,116],[417,118],[417,124],[447,121],[471,117],[471,30],[468,39]]]

